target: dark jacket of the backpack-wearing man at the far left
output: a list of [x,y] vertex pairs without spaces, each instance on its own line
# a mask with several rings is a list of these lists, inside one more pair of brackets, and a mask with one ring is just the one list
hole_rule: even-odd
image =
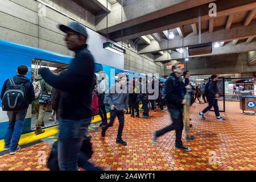
[[[23,86],[26,89],[26,96],[27,96],[27,106],[31,104],[31,102],[35,99],[35,90],[34,87],[32,85],[32,83],[30,82],[30,79],[24,77],[23,75],[16,75],[13,77],[13,81],[15,82],[15,84],[23,84],[25,83]],[[10,81],[9,79],[7,79],[5,81],[5,83],[3,84],[3,88],[2,88],[2,92],[1,92],[1,100],[3,100],[3,94],[6,91],[6,88],[10,86]]]

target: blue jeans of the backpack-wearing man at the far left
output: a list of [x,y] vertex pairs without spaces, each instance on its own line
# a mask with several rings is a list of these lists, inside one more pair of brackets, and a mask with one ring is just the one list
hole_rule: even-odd
[[27,108],[22,111],[7,111],[9,126],[5,135],[5,147],[10,147],[10,151],[15,151],[18,147],[26,114]]

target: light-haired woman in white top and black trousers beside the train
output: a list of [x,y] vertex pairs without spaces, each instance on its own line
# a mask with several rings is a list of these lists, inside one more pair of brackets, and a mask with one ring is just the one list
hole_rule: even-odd
[[98,86],[98,114],[101,117],[100,126],[108,124],[108,118],[106,114],[106,107],[104,104],[104,97],[108,88],[108,81],[106,81],[106,73],[104,71],[99,72],[99,75],[102,76],[101,82]]

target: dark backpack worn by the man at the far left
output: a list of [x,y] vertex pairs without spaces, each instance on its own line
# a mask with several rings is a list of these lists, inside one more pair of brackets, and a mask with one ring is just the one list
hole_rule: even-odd
[[26,88],[23,84],[15,84],[13,78],[9,78],[8,86],[3,94],[2,110],[3,111],[20,111],[27,107]]

